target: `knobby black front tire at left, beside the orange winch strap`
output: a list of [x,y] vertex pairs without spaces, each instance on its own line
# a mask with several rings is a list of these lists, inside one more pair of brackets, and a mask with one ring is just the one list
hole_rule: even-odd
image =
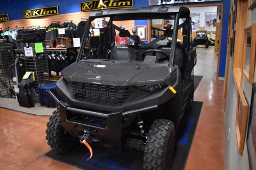
[[60,154],[67,154],[78,144],[78,139],[73,138],[60,125],[60,115],[54,111],[47,123],[46,140],[48,145]]

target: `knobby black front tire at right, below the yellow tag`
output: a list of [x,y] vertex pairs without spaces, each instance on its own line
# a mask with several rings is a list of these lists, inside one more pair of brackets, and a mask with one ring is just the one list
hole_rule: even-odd
[[146,170],[170,169],[174,151],[174,124],[169,120],[156,120],[151,125],[143,156]]

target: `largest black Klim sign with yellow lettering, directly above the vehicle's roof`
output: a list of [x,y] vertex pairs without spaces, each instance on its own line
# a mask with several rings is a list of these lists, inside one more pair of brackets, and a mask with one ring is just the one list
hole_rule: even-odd
[[133,7],[133,0],[94,0],[80,3],[81,12],[120,7]]

